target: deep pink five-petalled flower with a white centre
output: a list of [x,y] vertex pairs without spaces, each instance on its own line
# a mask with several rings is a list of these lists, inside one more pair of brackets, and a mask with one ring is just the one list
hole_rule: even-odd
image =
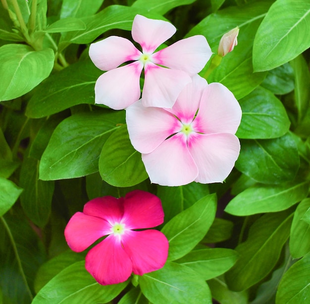
[[163,267],[168,241],[152,228],[163,223],[160,199],[152,193],[134,190],[125,197],[104,196],[85,204],[75,213],[64,235],[69,247],[80,252],[100,238],[86,255],[85,267],[102,285],[126,281],[131,273],[143,275]]

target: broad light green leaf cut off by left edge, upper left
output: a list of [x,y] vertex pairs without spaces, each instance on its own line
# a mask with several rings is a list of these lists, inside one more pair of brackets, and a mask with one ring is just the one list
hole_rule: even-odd
[[34,51],[23,44],[0,47],[0,101],[10,100],[31,91],[47,78],[54,64],[52,49]]

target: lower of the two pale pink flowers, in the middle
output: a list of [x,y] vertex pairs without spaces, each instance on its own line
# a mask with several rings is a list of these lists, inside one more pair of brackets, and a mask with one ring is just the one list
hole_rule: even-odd
[[129,137],[142,153],[151,182],[178,186],[223,182],[240,152],[234,135],[241,108],[222,84],[196,75],[173,108],[145,108],[142,101],[126,109]]

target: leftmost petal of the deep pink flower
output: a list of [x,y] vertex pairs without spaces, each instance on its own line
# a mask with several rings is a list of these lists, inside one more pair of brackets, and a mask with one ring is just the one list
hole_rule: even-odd
[[81,252],[103,236],[111,233],[111,225],[105,220],[82,212],[75,213],[68,222],[64,236],[69,247]]

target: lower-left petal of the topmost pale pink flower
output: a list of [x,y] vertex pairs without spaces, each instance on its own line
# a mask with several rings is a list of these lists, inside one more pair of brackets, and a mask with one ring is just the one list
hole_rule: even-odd
[[140,75],[143,64],[139,61],[114,68],[101,75],[95,85],[96,104],[122,110],[140,98]]

